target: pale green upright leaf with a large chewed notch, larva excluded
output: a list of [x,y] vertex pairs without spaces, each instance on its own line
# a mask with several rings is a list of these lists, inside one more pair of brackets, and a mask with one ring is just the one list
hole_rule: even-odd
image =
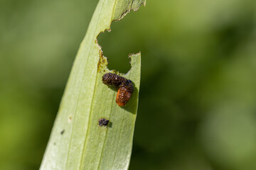
[[[137,115],[140,53],[129,55],[132,69],[121,74],[134,83],[127,105],[117,106],[117,88],[102,84],[107,69],[97,36],[110,30],[146,0],[100,0],[75,58],[60,109],[41,164],[43,169],[128,169]],[[119,74],[118,72],[115,72]],[[98,120],[110,120],[107,127]]]

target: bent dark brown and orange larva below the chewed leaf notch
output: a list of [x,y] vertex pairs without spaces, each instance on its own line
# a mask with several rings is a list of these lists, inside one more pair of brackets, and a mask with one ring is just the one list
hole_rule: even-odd
[[134,91],[132,81],[120,77],[117,74],[106,73],[102,77],[102,82],[107,85],[113,85],[119,87],[117,91],[116,102],[118,106],[124,106],[131,98]]

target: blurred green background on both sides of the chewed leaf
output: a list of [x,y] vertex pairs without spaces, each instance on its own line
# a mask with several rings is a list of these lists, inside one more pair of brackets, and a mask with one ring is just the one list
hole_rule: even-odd
[[[93,0],[0,0],[0,169],[38,169]],[[130,169],[256,169],[256,1],[163,0],[99,36],[142,52]]]

